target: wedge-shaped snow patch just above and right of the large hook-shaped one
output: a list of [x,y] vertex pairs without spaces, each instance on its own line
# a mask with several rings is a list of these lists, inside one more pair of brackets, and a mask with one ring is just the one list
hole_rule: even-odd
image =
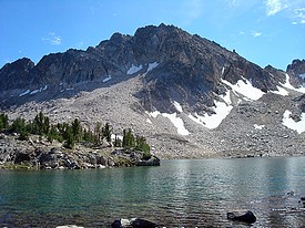
[[222,82],[232,87],[234,92],[237,92],[252,101],[256,101],[264,95],[264,92],[254,87],[246,79],[238,80],[236,84],[232,84],[226,80],[222,80]]

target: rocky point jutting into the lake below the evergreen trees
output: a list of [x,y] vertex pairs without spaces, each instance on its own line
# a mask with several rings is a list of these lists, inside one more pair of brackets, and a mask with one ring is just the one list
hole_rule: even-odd
[[144,157],[143,152],[106,145],[68,149],[60,143],[34,137],[19,141],[17,135],[0,135],[0,168],[88,169],[126,166],[159,166],[160,158]]

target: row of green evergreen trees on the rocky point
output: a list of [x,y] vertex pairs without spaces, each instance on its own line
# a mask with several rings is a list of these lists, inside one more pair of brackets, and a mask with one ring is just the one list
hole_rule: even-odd
[[144,152],[148,156],[150,155],[150,146],[145,137],[134,135],[130,128],[123,131],[122,139],[115,135],[112,142],[113,129],[109,123],[104,126],[101,123],[96,123],[93,131],[82,127],[78,118],[74,118],[71,124],[50,124],[49,117],[42,112],[29,122],[17,117],[11,124],[8,115],[2,113],[0,114],[0,131],[18,133],[19,139],[29,139],[30,134],[45,136],[50,143],[57,139],[63,143],[67,148],[73,148],[75,143],[91,143],[94,146],[99,146],[105,139],[115,147],[134,148]]

